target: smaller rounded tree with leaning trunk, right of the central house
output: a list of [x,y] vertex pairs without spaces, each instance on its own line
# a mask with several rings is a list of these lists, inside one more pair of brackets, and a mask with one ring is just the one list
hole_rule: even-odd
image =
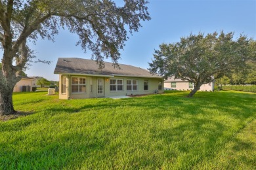
[[192,97],[202,84],[242,71],[255,55],[255,48],[250,46],[253,42],[244,35],[234,39],[233,32],[190,34],[180,42],[160,44],[149,70],[164,78],[175,76],[193,82],[194,89],[188,95]]

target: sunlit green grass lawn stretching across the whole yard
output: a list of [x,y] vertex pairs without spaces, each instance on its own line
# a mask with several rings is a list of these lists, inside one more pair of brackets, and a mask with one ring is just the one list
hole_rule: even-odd
[[255,169],[256,93],[60,100],[14,93],[0,169]]

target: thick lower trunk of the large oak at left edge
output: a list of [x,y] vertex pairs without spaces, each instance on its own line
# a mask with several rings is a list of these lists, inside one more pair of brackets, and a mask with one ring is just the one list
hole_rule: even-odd
[[13,114],[16,112],[12,104],[12,87],[2,86],[0,87],[0,115]]

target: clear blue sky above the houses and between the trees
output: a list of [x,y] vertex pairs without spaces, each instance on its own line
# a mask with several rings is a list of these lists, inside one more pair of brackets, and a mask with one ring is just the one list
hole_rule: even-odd
[[[235,36],[243,33],[256,39],[256,0],[148,0],[152,20],[142,22],[138,33],[129,36],[119,63],[148,68],[154,49],[162,42],[179,42],[180,37],[190,33],[212,33],[213,31],[234,31]],[[26,71],[28,76],[43,76],[48,80],[58,80],[54,67],[58,58],[91,59],[80,46],[75,46],[77,35],[60,31],[55,42],[39,40],[32,49],[39,59],[53,61],[50,65],[32,63]],[[110,60],[106,60],[110,61]]]

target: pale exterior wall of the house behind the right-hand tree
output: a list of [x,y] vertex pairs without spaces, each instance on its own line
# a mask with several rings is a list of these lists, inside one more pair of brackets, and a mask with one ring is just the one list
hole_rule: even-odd
[[[164,87],[171,90],[193,90],[193,88],[189,88],[188,82],[176,82],[176,88],[171,87],[171,82],[164,82]],[[200,91],[213,91],[213,82],[203,84],[200,87]]]

